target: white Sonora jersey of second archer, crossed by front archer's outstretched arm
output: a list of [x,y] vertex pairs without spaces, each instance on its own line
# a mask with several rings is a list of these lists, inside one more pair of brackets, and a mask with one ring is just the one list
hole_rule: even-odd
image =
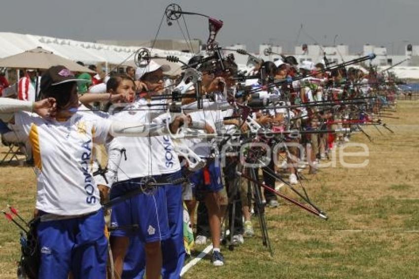
[[[124,123],[151,123],[157,107],[152,106],[152,109],[148,110],[146,104],[147,102],[141,99],[110,118]],[[118,181],[180,171],[179,159],[169,135],[118,137],[118,141],[125,148],[127,155],[127,160],[122,159],[119,165]]]

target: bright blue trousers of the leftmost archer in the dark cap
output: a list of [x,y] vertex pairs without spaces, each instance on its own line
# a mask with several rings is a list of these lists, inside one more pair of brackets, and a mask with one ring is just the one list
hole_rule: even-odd
[[107,239],[103,210],[37,227],[41,264],[38,278],[106,278]]

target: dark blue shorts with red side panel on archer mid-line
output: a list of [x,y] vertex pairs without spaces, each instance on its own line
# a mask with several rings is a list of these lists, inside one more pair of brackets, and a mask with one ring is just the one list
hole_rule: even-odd
[[193,191],[196,197],[205,193],[219,192],[223,188],[220,164],[216,165],[216,161],[193,173],[189,176],[189,180],[194,185]]

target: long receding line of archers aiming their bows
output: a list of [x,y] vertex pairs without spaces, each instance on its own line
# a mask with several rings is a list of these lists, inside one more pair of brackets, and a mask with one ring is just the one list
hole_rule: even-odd
[[83,95],[85,80],[54,66],[39,101],[0,99],[37,177],[35,218],[19,223],[14,208],[4,212],[25,232],[22,278],[179,278],[194,242],[210,239],[212,264],[228,264],[221,246],[254,235],[252,213],[270,248],[266,207],[286,200],[327,218],[303,172],[315,175],[351,133],[369,137],[364,125],[389,130],[380,117],[395,105],[392,80],[351,66],[361,60],[292,56],[253,59],[240,72],[234,55],[211,51],[179,76],[140,57],[137,69]]

